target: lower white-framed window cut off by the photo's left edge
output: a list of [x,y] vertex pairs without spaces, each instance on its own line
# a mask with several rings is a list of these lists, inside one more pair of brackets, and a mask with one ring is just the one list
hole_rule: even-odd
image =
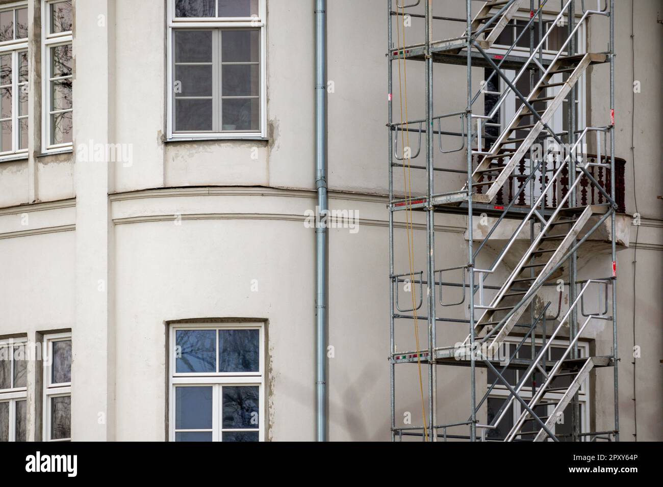
[[26,339],[0,340],[0,442],[26,441]]

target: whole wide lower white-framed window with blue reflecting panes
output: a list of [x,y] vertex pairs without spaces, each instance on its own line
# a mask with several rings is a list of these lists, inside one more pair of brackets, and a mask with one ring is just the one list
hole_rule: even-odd
[[170,441],[265,439],[262,325],[170,328]]

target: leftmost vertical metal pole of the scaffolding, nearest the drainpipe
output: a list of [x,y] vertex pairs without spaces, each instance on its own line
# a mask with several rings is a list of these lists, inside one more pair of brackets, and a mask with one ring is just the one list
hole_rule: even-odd
[[[393,356],[396,352],[395,337],[394,337],[394,284],[393,278],[394,275],[394,212],[391,208],[391,201],[394,199],[394,168],[392,162],[394,160],[394,147],[391,144],[391,124],[393,123],[393,63],[391,60],[391,48],[392,48],[392,21],[391,21],[391,3],[392,0],[387,0],[387,52],[390,53],[387,56],[387,91],[389,107],[387,111],[389,112],[389,125],[388,129],[388,138],[387,146],[389,146],[389,383],[390,383],[390,402],[391,402],[391,441],[396,441],[396,364],[393,362]],[[396,283],[398,286],[398,283]]]

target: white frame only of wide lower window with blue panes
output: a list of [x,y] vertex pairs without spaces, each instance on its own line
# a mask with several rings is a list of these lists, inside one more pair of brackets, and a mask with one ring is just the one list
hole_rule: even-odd
[[[259,330],[259,370],[258,372],[204,372],[204,373],[176,373],[175,372],[175,333],[178,330]],[[168,441],[175,441],[175,388],[212,386],[212,441],[221,441],[223,431],[245,431],[245,429],[223,429],[221,398],[223,386],[258,386],[259,390],[259,423],[258,441],[265,441],[265,418],[267,407],[265,401],[265,326],[263,323],[186,323],[171,325],[168,338]],[[215,344],[216,369],[219,362],[219,333],[217,331]],[[192,430],[177,430],[178,432]],[[210,431],[193,430],[193,431]]]

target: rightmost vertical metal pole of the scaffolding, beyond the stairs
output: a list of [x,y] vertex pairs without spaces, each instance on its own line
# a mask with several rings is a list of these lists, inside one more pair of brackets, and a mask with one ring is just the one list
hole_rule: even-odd
[[[615,201],[615,0],[610,0],[610,195]],[[615,208],[610,217],[612,232],[611,246],[613,257],[613,362],[615,374],[615,441],[619,441],[619,357],[617,354],[617,248],[615,246]]]

